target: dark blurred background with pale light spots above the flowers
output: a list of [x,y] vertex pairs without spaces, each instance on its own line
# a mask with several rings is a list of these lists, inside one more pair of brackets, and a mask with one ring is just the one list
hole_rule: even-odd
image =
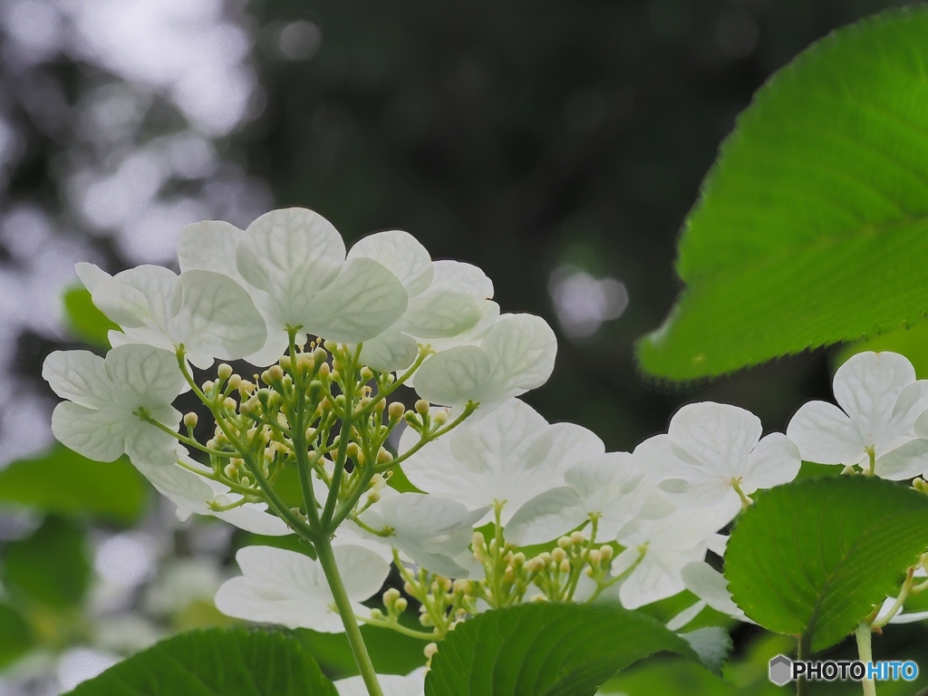
[[899,4],[2,0],[0,466],[51,442],[39,372],[76,345],[74,263],[173,265],[187,223],[290,205],[481,266],[504,311],[558,332],[527,400],[612,449],[698,399],[782,430],[830,393],[824,353],[684,388],[641,375],[634,343],[679,290],[677,233],[754,90]]

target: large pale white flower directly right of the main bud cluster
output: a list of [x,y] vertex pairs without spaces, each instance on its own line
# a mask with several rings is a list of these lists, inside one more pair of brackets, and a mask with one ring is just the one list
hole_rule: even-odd
[[[419,442],[407,428],[402,455]],[[564,471],[605,451],[602,441],[573,423],[549,425],[532,406],[509,399],[466,427],[425,445],[403,471],[419,490],[454,498],[470,509],[506,501],[502,521],[529,498],[562,486]]]

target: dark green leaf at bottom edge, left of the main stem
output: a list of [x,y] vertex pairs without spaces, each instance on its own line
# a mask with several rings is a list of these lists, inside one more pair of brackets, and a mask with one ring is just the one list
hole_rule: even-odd
[[110,667],[71,696],[337,696],[300,641],[211,628],[167,638]]

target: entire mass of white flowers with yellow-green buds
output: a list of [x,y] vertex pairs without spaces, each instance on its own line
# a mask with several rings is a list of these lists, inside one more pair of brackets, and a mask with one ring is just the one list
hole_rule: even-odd
[[[328,221],[290,209],[244,231],[188,226],[178,257],[179,276],[79,265],[122,330],[105,358],[46,359],[45,380],[66,399],[53,431],[88,458],[127,454],[182,519],[214,515],[314,543],[324,535],[350,611],[367,623],[437,640],[512,603],[612,598],[634,609],[687,588],[699,601],[672,628],[707,605],[746,621],[706,559],[724,555],[721,532],[755,491],[792,481],[802,460],[894,480],[928,471],[928,382],[901,355],[848,360],[834,378],[841,407],[806,404],[786,434],[762,437],[748,411],[698,403],[633,452],[606,452],[593,432],[550,424],[515,398],[548,380],[548,325],[500,315],[482,271],[432,261],[405,232],[346,251]],[[271,367],[250,381],[222,364],[216,380],[196,384],[189,365],[217,358]],[[421,397],[415,409],[386,402],[404,383]],[[193,438],[196,416],[172,406],[189,390],[216,422],[205,445]],[[383,445],[403,421],[392,454]],[[419,493],[385,486],[399,464]],[[273,489],[297,466],[305,504],[291,508]],[[538,545],[548,550],[521,550]],[[248,547],[237,559],[242,575],[220,589],[220,610],[343,630],[321,558]],[[398,622],[408,602],[395,589],[383,594],[386,614],[362,604],[391,563],[430,632]],[[421,692],[421,673],[394,681],[397,693]]]

